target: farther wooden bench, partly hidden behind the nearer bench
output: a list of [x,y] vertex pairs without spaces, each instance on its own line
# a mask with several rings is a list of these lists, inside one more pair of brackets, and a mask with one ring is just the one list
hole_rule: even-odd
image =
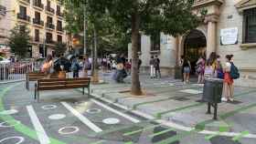
[[37,81],[38,79],[42,79],[47,77],[45,73],[40,72],[29,72],[26,75],[26,88],[29,90],[29,82],[30,81]]

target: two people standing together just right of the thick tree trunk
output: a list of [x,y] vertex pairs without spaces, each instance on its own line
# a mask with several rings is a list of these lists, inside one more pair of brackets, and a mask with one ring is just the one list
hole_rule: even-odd
[[157,56],[152,56],[150,61],[150,77],[151,78],[161,78],[160,72],[160,59]]

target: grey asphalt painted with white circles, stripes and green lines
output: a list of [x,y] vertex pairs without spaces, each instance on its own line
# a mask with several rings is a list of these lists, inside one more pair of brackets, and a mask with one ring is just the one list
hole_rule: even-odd
[[[33,85],[31,85],[33,86]],[[104,88],[108,90],[108,88]],[[103,90],[104,90],[103,89]],[[33,99],[24,82],[0,85],[0,144],[255,144],[256,139],[182,131],[78,89]]]

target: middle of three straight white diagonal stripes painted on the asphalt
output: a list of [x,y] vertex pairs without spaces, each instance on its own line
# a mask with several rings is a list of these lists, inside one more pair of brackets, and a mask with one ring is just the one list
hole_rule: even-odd
[[98,126],[96,126],[95,124],[93,124],[88,118],[85,118],[83,115],[80,114],[80,112],[78,112],[75,108],[72,108],[67,102],[61,102],[61,104],[69,109],[69,111],[75,115],[77,118],[80,119],[80,121],[82,123],[84,123],[86,126],[88,126],[91,130],[93,130],[94,132],[101,132],[102,129],[100,129]]

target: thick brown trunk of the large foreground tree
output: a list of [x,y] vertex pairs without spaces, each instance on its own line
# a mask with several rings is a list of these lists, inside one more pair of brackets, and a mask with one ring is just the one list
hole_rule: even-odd
[[135,96],[142,95],[139,68],[138,68],[138,36],[140,18],[138,12],[132,15],[132,88],[131,93]]

